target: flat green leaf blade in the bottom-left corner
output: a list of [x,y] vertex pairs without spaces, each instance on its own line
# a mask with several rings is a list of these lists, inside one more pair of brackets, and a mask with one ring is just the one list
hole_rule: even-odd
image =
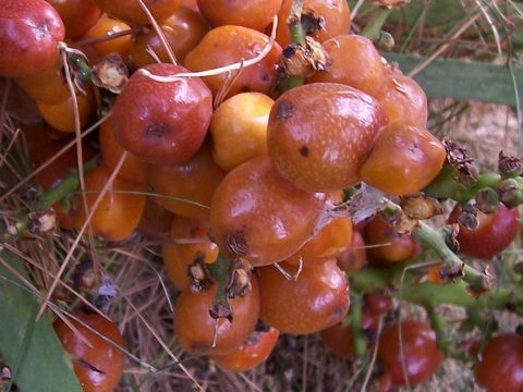
[[[22,261],[7,250],[0,257],[24,278]],[[47,315],[35,321],[38,303],[24,283],[0,264],[0,354],[22,392],[82,392],[71,363]]]

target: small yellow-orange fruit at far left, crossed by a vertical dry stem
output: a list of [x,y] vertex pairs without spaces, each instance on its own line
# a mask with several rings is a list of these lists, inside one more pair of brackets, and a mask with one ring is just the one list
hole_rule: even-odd
[[[94,94],[90,90],[90,87],[87,87],[85,91],[87,95],[76,95],[81,127],[84,127],[87,124],[89,115],[95,109]],[[75,132],[73,109],[74,102],[71,96],[58,103],[36,102],[36,105],[38,106],[38,111],[46,123],[51,125],[53,128],[66,133]]]

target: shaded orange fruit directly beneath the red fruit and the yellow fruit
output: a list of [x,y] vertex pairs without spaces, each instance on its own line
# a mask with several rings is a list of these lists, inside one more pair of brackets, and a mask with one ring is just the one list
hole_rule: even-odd
[[145,167],[154,200],[186,218],[209,219],[210,201],[226,172],[212,160],[205,144],[187,162],[179,166]]

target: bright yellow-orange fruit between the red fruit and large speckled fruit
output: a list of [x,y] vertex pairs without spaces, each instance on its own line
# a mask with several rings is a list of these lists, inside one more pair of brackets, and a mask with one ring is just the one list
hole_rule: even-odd
[[212,158],[230,171],[267,154],[267,124],[275,101],[260,93],[242,93],[223,101],[212,113]]

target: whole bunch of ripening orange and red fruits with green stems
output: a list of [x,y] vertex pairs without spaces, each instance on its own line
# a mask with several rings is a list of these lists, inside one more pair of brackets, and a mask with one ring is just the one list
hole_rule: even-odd
[[[93,244],[160,241],[178,342],[232,371],[263,363],[279,333],[320,332],[354,362],[376,344],[384,389],[459,354],[436,306],[488,301],[491,275],[458,254],[492,259],[512,243],[523,164],[500,155],[499,173],[479,174],[436,138],[425,93],[351,34],[346,1],[3,0],[0,44],[0,75],[41,120],[22,124],[39,191],[3,241],[54,220]],[[424,222],[441,199],[458,201],[445,232]],[[438,260],[398,291],[427,252]],[[398,319],[392,296],[430,324]],[[118,329],[73,316],[56,330],[84,390],[112,390]],[[503,339],[521,340],[491,342]],[[502,366],[499,351],[488,343],[476,367],[491,391],[481,369]]]

